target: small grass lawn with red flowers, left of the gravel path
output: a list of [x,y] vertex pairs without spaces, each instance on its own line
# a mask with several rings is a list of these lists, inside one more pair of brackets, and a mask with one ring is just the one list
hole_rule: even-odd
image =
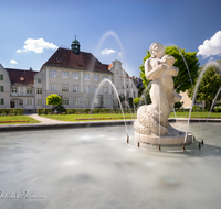
[[[2,123],[3,121],[3,123]],[[12,122],[7,122],[7,121],[12,121]],[[17,121],[17,122],[13,122]],[[18,121],[25,121],[25,122],[18,122]],[[0,117],[0,125],[1,124],[24,124],[24,123],[39,123],[40,121],[36,121],[32,119],[31,117],[27,116],[6,116],[6,117]]]

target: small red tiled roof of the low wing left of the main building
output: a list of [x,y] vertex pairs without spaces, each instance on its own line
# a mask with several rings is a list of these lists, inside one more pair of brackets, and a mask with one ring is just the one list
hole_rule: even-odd
[[12,85],[33,85],[38,72],[6,68]]

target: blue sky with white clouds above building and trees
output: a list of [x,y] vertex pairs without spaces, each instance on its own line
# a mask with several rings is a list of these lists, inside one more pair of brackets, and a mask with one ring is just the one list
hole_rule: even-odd
[[220,8],[220,0],[1,0],[0,64],[40,70],[76,35],[81,51],[103,64],[119,59],[130,76],[154,42],[197,52],[202,66],[221,59]]

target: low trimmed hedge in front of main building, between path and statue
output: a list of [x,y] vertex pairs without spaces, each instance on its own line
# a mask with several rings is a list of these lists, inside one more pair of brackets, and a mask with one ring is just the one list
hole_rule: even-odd
[[[134,108],[131,108],[131,110],[124,108],[123,111],[130,113],[130,111],[134,112]],[[137,109],[135,109],[135,111],[137,111]],[[53,110],[51,108],[39,108],[36,113],[38,114],[50,114],[50,113],[53,113]],[[122,110],[120,110],[120,108],[113,108],[113,109],[108,109],[108,108],[94,108],[94,109],[90,109],[90,108],[84,108],[84,109],[67,108],[65,110],[65,113],[66,114],[122,113]]]

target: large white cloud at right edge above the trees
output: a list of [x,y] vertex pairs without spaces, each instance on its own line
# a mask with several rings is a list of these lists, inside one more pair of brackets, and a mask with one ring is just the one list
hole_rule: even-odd
[[221,55],[221,31],[218,31],[210,40],[206,40],[198,50],[197,55],[202,55],[203,58]]

